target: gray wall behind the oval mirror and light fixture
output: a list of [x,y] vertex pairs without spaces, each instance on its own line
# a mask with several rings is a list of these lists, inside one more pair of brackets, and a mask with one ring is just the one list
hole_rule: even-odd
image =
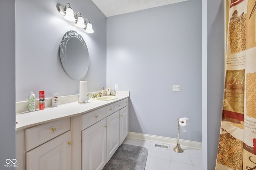
[[59,55],[60,41],[69,30],[82,35],[88,47],[89,69],[84,77],[88,89],[106,86],[106,16],[91,0],[70,0],[74,12],[92,23],[94,33],[88,34],[64,19],[58,3],[65,6],[66,0],[16,1],[16,102],[28,100],[30,91],[37,99],[39,90],[45,90],[46,98],[52,93],[79,94],[80,80],[66,74]]

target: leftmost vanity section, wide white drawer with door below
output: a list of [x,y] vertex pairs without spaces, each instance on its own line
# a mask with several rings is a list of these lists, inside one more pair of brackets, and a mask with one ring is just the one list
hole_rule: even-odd
[[70,118],[26,129],[26,170],[70,170],[70,145]]

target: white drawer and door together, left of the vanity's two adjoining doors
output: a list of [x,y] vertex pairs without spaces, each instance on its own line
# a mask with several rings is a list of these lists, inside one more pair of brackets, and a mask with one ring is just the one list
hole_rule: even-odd
[[106,107],[82,115],[82,170],[106,164]]

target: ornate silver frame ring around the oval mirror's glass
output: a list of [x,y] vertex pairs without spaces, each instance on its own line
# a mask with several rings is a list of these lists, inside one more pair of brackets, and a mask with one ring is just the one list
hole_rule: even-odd
[[[82,72],[80,72],[80,73],[74,73],[74,72],[72,72],[72,68],[70,68],[69,66],[68,66],[68,63],[67,63],[67,59],[66,59],[66,45],[67,45],[67,42],[68,42],[68,40],[71,38],[71,37],[77,37],[80,41],[81,41],[81,43],[82,43],[82,45],[83,45],[83,47],[84,47],[84,57],[86,57],[85,59],[86,59],[86,62],[84,63],[84,65],[83,65],[83,69],[82,69]],[[75,55],[75,54],[74,54]],[[80,80],[80,79],[82,79],[85,75],[86,75],[86,73],[87,73],[87,71],[88,71],[88,68],[89,68],[89,53],[88,53],[88,48],[87,48],[87,46],[86,46],[86,43],[85,43],[85,41],[84,41],[84,39],[83,39],[83,37],[79,34],[79,33],[77,33],[76,31],[73,31],[73,30],[71,30],[71,31],[68,31],[68,32],[66,32],[65,34],[64,34],[64,36],[63,36],[63,38],[62,38],[62,41],[61,41],[61,43],[60,43],[60,60],[61,60],[61,63],[62,63],[62,66],[63,66],[63,68],[64,68],[64,70],[66,71],[66,73],[71,77],[71,78],[73,78],[73,79],[75,79],[75,80]],[[79,61],[78,61],[79,62]]]

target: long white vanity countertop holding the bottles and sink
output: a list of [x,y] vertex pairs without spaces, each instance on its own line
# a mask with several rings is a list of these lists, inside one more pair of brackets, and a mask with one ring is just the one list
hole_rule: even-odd
[[86,104],[78,104],[78,102],[71,102],[67,104],[61,104],[58,107],[46,107],[43,110],[37,110],[33,112],[18,113],[16,114],[16,131],[39,125],[42,123],[62,119],[65,117],[72,117],[81,115],[100,107],[107,106],[119,100],[123,100],[129,97],[128,94],[122,93],[116,95],[118,98],[108,101],[91,101],[88,100]]

